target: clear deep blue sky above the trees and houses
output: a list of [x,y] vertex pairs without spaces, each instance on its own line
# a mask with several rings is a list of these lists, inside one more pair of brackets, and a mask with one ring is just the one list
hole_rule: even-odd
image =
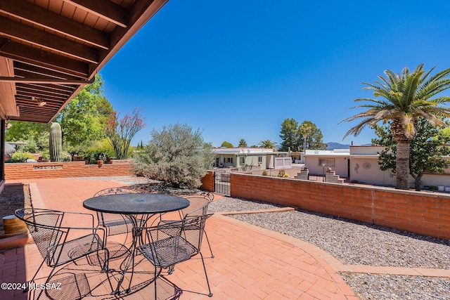
[[281,123],[314,122],[323,142],[370,143],[354,99],[384,70],[450,67],[450,1],[170,0],[101,70],[121,115],[146,129],[189,124],[203,138],[281,143]]

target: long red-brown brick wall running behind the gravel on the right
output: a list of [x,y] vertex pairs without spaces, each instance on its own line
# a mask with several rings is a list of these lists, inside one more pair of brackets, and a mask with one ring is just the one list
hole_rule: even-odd
[[450,195],[231,173],[231,196],[450,239]]

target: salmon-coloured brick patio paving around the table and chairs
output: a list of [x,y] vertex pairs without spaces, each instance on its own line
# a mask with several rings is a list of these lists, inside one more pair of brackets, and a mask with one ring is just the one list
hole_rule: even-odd
[[[30,184],[34,207],[85,212],[91,211],[82,207],[84,199],[103,188],[123,185],[114,181],[68,178],[8,181],[13,182]],[[205,259],[213,299],[358,299],[338,271],[450,277],[449,270],[343,265],[312,244],[220,214],[207,221],[207,233],[215,256]],[[203,246],[203,254],[207,257],[209,249],[206,243]],[[0,282],[30,280],[41,260],[32,243],[6,250],[0,254]],[[86,299],[111,299],[106,276],[89,267],[83,266],[91,289]],[[151,289],[145,284],[152,276],[149,270],[153,270],[149,263],[139,263],[133,285],[142,282],[144,287],[139,287],[139,291],[136,288],[134,294],[122,299],[148,299]],[[49,268],[44,268],[39,278],[45,278],[48,273]],[[187,289],[207,292],[198,259],[180,263],[167,280],[184,290],[180,299],[209,299],[186,292]],[[69,282],[63,283],[70,286]],[[32,298],[33,294],[30,296]],[[0,299],[27,299],[27,294],[0,289]]]

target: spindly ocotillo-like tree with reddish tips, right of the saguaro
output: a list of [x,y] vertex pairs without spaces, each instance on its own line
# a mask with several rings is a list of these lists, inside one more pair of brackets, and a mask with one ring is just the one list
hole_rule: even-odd
[[108,119],[106,119],[105,135],[113,147],[114,155],[117,159],[126,159],[128,154],[129,144],[131,139],[143,129],[146,124],[145,119],[139,112],[142,108],[134,108],[131,115],[127,113],[122,119],[119,119],[119,113],[113,112]]

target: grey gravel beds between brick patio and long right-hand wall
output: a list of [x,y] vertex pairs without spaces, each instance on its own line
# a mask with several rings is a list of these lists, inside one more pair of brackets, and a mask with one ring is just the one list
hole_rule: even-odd
[[[274,204],[225,197],[208,211],[250,211]],[[231,216],[315,244],[344,264],[450,269],[450,241],[308,211]],[[365,299],[450,299],[450,278],[340,273]]]

